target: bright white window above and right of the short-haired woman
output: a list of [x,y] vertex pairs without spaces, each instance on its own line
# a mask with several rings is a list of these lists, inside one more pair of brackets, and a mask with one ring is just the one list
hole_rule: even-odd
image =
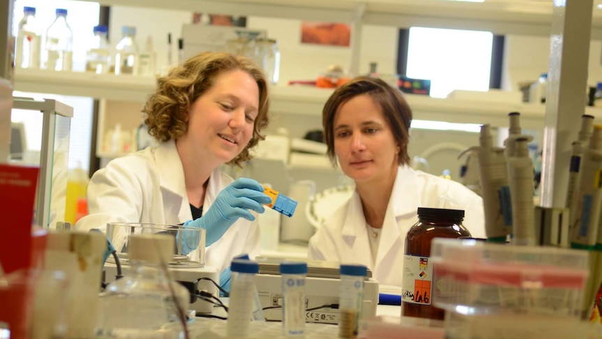
[[493,34],[411,27],[406,75],[430,79],[430,95],[446,97],[454,89],[490,88]]

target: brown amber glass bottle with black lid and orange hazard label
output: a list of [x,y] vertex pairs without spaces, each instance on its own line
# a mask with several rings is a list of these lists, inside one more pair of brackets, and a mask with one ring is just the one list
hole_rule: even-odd
[[432,263],[429,262],[433,238],[469,238],[462,226],[464,210],[418,208],[418,222],[406,234],[402,315],[443,320],[445,312],[434,307],[432,289],[436,288]]

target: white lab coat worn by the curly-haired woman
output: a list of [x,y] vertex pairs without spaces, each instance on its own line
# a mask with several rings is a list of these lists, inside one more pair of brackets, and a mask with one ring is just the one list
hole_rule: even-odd
[[[218,169],[207,184],[203,211],[209,210],[217,194],[233,179]],[[105,229],[108,222],[182,224],[192,219],[184,185],[184,170],[174,141],[147,147],[109,162],[96,171],[88,185],[89,215],[76,227]],[[213,245],[205,249],[205,264],[223,270],[237,254],[259,254],[257,219],[238,219]]]

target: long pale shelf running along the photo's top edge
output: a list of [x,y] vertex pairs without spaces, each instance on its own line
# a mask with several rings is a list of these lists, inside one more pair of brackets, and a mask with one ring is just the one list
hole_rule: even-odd
[[[552,1],[487,0],[82,0],[104,6],[189,10],[396,27],[439,27],[494,34],[549,36]],[[595,6],[595,5],[594,5]],[[602,38],[602,10],[594,8],[592,38]]]

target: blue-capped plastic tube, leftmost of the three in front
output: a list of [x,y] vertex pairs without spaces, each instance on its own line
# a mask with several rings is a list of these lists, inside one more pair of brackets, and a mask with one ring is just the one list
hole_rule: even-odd
[[259,264],[256,261],[234,259],[230,270],[228,337],[246,337],[254,308],[255,275],[259,272]]

